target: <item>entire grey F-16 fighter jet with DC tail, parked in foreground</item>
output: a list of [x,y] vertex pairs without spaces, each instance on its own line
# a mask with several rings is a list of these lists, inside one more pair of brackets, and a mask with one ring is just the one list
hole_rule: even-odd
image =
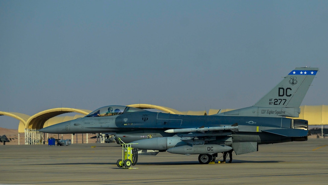
[[197,154],[201,164],[208,164],[218,153],[231,149],[240,155],[258,151],[259,144],[307,140],[308,121],[284,117],[298,117],[299,106],[318,70],[295,68],[253,106],[211,116],[175,115],[112,105],[39,131],[115,133],[125,143],[138,143],[135,148]]

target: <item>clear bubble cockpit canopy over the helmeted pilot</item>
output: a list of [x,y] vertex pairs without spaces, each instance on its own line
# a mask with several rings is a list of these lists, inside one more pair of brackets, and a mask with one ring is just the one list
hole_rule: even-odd
[[85,117],[114,116],[114,115],[124,114],[126,112],[137,112],[137,111],[145,111],[145,110],[134,108],[134,107],[122,106],[122,105],[110,105],[110,106],[104,106],[98,108]]

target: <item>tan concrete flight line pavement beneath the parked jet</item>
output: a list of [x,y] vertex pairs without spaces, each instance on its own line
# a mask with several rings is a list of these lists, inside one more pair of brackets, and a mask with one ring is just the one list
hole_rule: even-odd
[[139,156],[138,169],[117,167],[122,147],[116,143],[1,145],[0,183],[327,184],[327,145],[328,139],[260,145],[258,152],[233,153],[233,163],[207,165],[198,155],[161,152]]

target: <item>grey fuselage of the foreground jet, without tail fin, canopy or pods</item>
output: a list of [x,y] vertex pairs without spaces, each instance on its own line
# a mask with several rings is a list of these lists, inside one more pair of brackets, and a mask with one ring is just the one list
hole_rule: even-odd
[[[158,113],[142,110],[114,116],[83,117],[51,126],[48,133],[117,133],[124,142],[147,139],[149,137],[170,137],[168,129],[214,127],[238,123],[238,133],[232,133],[234,142],[257,142],[258,144],[292,141],[290,137],[262,133],[262,130],[291,128],[293,119],[243,117],[243,116],[191,116]],[[125,133],[125,135],[120,135]],[[140,134],[141,133],[141,134]],[[144,133],[144,134],[142,134]],[[216,133],[216,132],[214,132]],[[157,134],[157,135],[156,135]],[[124,137],[123,137],[124,136]]]

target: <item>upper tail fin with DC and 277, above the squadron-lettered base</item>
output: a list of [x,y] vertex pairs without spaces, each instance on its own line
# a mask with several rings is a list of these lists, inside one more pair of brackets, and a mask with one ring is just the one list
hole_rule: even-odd
[[254,106],[299,108],[319,68],[297,67]]

